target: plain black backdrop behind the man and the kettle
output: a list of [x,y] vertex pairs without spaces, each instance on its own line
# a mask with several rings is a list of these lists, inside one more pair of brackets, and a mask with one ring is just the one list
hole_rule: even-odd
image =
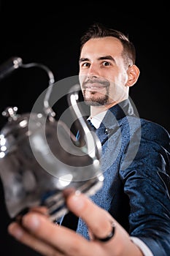
[[[140,1],[7,1],[0,2],[0,66],[12,56],[23,63],[45,64],[55,80],[78,74],[80,37],[94,21],[128,34],[136,46],[139,81],[131,88],[139,116],[161,124],[169,123],[169,8]],[[149,2],[148,2],[149,4]],[[17,106],[31,111],[39,94],[47,88],[42,69],[18,69],[0,81],[0,111]],[[66,102],[58,102],[58,116]],[[0,117],[0,126],[5,124]],[[36,255],[7,234],[9,217],[1,189],[1,255]],[[4,252],[3,252],[4,251]]]

